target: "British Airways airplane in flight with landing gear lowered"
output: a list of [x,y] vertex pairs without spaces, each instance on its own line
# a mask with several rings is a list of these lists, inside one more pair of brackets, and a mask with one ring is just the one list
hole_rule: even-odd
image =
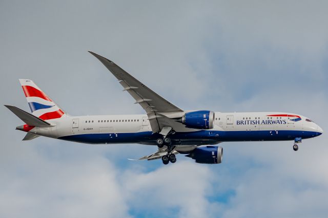
[[[90,52],[90,51],[89,51]],[[23,140],[39,136],[88,144],[137,143],[157,145],[157,150],[137,160],[161,159],[176,162],[183,154],[196,163],[222,162],[222,142],[294,141],[320,136],[322,128],[311,119],[294,113],[221,113],[208,110],[185,111],[159,96],[113,61],[90,52],[116,77],[144,108],[140,115],[71,116],[30,79],[19,79],[32,114],[5,105],[25,124]],[[135,159],[129,159],[135,160]]]

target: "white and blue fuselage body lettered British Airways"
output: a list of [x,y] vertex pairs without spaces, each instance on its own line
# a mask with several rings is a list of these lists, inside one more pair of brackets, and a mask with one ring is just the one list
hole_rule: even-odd
[[[281,116],[279,116],[281,115]],[[288,113],[215,112],[212,129],[191,129],[171,136],[176,145],[216,144],[224,141],[279,141],[321,135],[310,119]],[[297,117],[295,117],[297,116]],[[296,120],[295,120],[296,118]],[[30,132],[51,138],[91,144],[141,143],[156,145],[147,115],[68,116],[51,120],[54,127],[34,127]]]

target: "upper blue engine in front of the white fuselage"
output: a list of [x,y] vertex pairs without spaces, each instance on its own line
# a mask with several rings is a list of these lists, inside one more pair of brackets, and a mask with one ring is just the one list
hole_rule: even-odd
[[182,117],[182,123],[185,124],[188,128],[211,129],[214,127],[214,112],[188,112]]

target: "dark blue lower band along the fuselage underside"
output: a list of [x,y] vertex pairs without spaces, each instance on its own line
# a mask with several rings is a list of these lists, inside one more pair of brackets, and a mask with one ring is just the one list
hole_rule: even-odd
[[[188,133],[175,133],[170,135],[173,145],[179,144],[215,144],[218,142],[231,141],[283,141],[294,140],[296,137],[303,139],[317,136],[316,132],[298,130],[258,130],[258,131],[211,131],[199,130]],[[152,132],[139,133],[97,133],[80,134],[59,137],[58,139],[90,144],[115,144],[115,143],[142,143],[156,144],[159,134]]]

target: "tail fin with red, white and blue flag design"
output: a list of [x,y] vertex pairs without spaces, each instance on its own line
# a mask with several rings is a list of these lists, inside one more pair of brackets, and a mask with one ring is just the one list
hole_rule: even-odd
[[42,120],[51,120],[60,118],[65,114],[32,80],[19,79],[19,82],[35,117]]

